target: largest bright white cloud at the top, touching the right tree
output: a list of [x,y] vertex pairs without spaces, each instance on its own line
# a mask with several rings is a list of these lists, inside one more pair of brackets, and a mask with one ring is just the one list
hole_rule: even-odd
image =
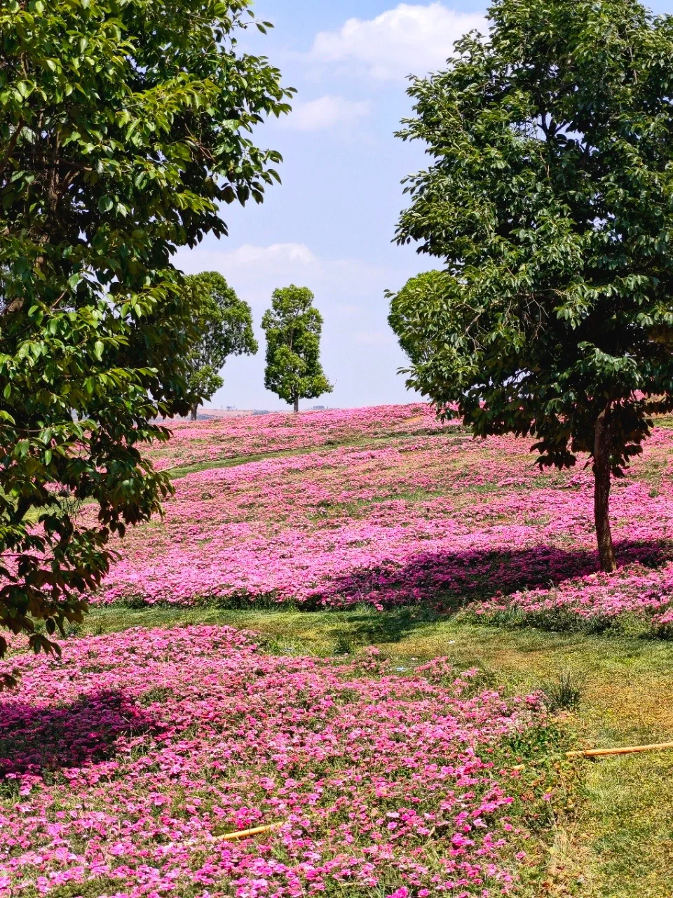
[[453,42],[472,29],[485,30],[482,15],[458,13],[441,3],[402,3],[375,19],[348,19],[339,31],[321,31],[310,56],[359,63],[380,80],[425,75],[443,66]]

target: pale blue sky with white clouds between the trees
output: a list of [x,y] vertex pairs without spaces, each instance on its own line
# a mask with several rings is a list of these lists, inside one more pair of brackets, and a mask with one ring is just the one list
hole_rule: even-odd
[[[673,13],[673,0],[650,4]],[[250,30],[241,47],[264,54],[297,89],[293,112],[256,132],[284,156],[282,184],[265,202],[226,207],[229,237],[179,250],[188,274],[216,270],[252,309],[256,357],[230,357],[213,408],[285,409],[264,389],[259,328],[271,293],[308,286],[325,324],[322,362],[334,391],[302,408],[355,408],[414,400],[398,369],[406,358],[387,322],[387,289],[397,290],[435,262],[393,243],[406,205],[400,181],[424,167],[421,145],[393,136],[411,112],[406,76],[441,68],[452,44],[485,30],[474,0],[395,4],[386,0],[257,0],[267,36]]]

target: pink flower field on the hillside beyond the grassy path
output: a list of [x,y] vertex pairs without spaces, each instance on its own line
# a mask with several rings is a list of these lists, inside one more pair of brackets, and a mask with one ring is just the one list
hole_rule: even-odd
[[[127,535],[97,601],[432,603],[482,621],[553,628],[605,629],[630,616],[668,633],[673,432],[656,429],[615,484],[622,567],[605,577],[595,573],[590,470],[540,472],[529,442],[431,428],[421,408],[307,413],[296,424],[294,416],[240,418],[236,427],[256,450],[283,427],[285,447],[303,449],[313,419],[316,441],[338,432],[359,442],[323,440],[310,452],[179,478],[164,519]],[[423,434],[410,432],[410,421]],[[179,431],[174,462],[193,462],[213,427]]]

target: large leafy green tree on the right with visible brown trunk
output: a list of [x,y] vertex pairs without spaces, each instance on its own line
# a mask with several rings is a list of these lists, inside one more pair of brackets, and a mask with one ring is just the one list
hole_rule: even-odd
[[611,476],[673,409],[673,19],[635,0],[488,14],[488,39],[409,89],[399,136],[431,163],[397,238],[445,268],[391,323],[408,383],[476,435],[532,436],[541,466],[589,453],[611,571]]

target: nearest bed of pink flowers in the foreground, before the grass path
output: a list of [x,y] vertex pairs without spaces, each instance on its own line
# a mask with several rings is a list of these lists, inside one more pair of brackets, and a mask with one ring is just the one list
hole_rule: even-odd
[[375,649],[264,656],[221,627],[65,649],[13,657],[0,700],[2,898],[486,898],[534,863],[525,820],[553,795],[511,770],[546,738],[534,697]]

